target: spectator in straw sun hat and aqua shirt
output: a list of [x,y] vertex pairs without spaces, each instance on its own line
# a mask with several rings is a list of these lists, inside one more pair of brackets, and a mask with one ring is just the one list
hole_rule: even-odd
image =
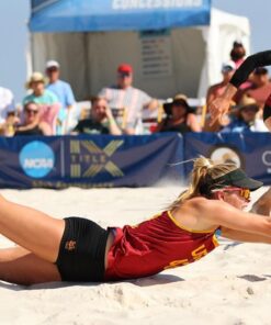
[[52,134],[56,134],[57,116],[60,103],[56,94],[45,89],[45,78],[41,72],[33,72],[26,83],[27,89],[32,89],[32,93],[23,99],[23,104],[35,102],[39,105],[41,121],[46,122],[52,127]]

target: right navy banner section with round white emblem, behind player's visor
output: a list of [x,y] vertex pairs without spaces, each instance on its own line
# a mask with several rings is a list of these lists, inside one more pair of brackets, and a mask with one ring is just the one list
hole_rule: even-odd
[[[234,161],[246,172],[266,184],[271,183],[271,134],[249,133],[189,133],[184,137],[184,158],[203,155],[216,162]],[[192,169],[185,164],[184,173]]]

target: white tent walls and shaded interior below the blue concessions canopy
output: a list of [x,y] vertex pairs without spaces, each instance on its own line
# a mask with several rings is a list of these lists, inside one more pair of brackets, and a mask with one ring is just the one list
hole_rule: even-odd
[[77,100],[115,82],[120,63],[134,67],[134,86],[157,98],[187,93],[205,97],[221,80],[233,42],[249,53],[249,21],[212,9],[211,25],[163,32],[33,33],[32,69],[44,71],[47,59],[61,65],[61,78],[71,83]]

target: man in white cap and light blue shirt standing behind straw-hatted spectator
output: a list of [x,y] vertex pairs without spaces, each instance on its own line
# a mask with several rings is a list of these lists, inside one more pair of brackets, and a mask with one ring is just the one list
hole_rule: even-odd
[[75,96],[70,85],[59,79],[59,63],[56,60],[48,60],[46,64],[46,75],[48,77],[46,89],[54,92],[61,104],[58,113],[59,130],[57,134],[66,134],[69,128],[70,111],[76,102]]

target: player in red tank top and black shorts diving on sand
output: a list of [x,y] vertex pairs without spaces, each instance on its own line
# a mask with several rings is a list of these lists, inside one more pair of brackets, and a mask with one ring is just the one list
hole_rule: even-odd
[[0,197],[0,233],[19,245],[0,250],[0,279],[32,284],[147,277],[203,258],[218,245],[217,232],[271,244],[269,218],[242,211],[250,191],[261,186],[234,164],[200,157],[189,188],[166,211],[108,229],[87,218],[58,220]]

